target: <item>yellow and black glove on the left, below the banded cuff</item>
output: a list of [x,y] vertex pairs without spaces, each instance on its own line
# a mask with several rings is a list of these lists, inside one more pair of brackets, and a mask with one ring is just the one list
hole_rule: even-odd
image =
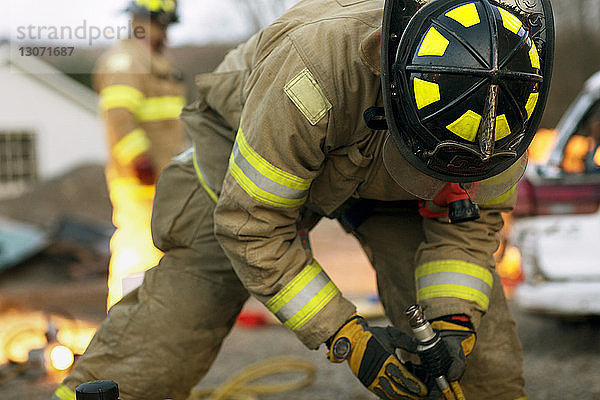
[[401,348],[416,352],[417,341],[393,327],[369,327],[360,316],[350,318],[328,341],[327,358],[348,361],[360,382],[382,399],[425,399],[427,388],[395,355]]

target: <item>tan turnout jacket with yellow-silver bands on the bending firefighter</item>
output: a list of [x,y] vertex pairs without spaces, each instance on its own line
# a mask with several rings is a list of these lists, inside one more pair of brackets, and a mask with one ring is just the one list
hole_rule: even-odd
[[[334,215],[350,198],[415,199],[383,165],[388,133],[363,120],[367,108],[382,104],[382,8],[378,0],[299,3],[200,75],[200,96],[183,114],[199,177],[219,196],[218,240],[250,293],[310,348],[355,308],[303,248],[302,210]],[[414,273],[429,318],[464,313],[478,325],[488,308],[500,210],[512,201],[483,206],[474,222],[423,220]]]

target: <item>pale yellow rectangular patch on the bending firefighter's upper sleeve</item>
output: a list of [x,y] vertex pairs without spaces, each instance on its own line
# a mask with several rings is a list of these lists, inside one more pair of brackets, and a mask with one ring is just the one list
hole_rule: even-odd
[[316,125],[332,108],[323,89],[308,68],[292,78],[283,90],[311,125]]

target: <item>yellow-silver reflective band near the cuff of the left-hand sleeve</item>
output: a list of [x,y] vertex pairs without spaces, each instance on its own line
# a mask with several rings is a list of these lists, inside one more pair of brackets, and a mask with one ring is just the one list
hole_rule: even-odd
[[313,261],[265,306],[286,327],[295,331],[310,321],[337,293],[337,286],[319,263]]

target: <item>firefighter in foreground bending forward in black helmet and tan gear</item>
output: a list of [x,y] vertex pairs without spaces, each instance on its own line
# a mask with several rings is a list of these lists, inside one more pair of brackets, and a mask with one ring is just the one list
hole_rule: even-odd
[[[546,45],[510,0],[421,6],[301,1],[197,77],[194,149],[158,182],[165,255],[55,398],[94,379],[124,400],[187,398],[252,295],[379,397],[437,399],[436,375],[395,353],[414,345],[401,332],[419,302],[468,399],[524,399],[493,253],[544,109],[552,21]],[[303,244],[321,217],[359,239],[394,327],[356,315]]]

